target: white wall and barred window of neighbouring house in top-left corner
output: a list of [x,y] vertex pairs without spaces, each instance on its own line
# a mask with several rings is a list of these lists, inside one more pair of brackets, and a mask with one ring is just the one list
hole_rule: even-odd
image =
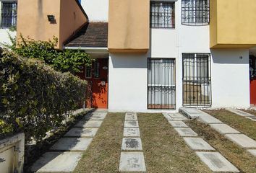
[[15,31],[16,25],[17,25],[17,1],[0,0],[0,44],[1,43],[11,44],[9,35],[11,37],[16,36],[16,31]]

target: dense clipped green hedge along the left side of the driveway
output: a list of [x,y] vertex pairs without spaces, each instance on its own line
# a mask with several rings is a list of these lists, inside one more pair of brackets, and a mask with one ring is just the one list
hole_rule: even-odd
[[85,99],[86,82],[42,61],[0,55],[0,135],[25,132],[40,141]]

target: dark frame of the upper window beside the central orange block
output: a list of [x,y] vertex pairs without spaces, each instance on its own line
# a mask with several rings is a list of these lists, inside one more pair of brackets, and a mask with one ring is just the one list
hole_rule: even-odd
[[[170,24],[162,24],[162,25],[171,25],[171,27],[166,27],[166,26],[153,26],[153,22],[152,22],[152,4],[171,4],[172,5],[172,13],[170,14],[171,16],[171,23]],[[150,28],[165,28],[165,29],[175,29],[175,1],[150,1]],[[155,25],[160,25],[157,23],[154,23]]]

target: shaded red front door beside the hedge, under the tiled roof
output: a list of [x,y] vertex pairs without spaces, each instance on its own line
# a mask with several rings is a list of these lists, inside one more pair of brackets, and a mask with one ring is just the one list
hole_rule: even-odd
[[81,74],[88,81],[86,107],[108,108],[108,59],[98,58],[92,66],[86,67]]

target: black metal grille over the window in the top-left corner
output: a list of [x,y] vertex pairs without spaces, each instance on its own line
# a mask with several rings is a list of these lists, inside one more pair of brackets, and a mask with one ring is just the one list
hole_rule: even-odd
[[2,2],[1,4],[1,28],[16,27],[17,2]]

